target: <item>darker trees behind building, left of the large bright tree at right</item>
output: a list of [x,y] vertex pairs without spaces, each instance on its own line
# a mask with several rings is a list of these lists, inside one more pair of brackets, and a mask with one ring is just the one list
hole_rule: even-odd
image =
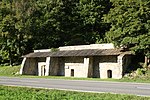
[[109,0],[0,1],[0,63],[19,62],[34,49],[103,40]]

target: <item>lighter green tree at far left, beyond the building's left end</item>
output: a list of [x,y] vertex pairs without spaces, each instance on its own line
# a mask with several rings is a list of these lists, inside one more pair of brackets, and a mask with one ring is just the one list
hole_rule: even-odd
[[9,61],[10,65],[18,61],[23,53],[26,41],[24,37],[27,36],[25,23],[28,16],[28,4],[24,0],[0,2],[1,56],[4,61]]

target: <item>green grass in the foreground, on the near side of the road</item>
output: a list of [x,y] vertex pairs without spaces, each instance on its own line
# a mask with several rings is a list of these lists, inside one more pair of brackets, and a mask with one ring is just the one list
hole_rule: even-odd
[[0,86],[0,100],[150,100],[150,97]]

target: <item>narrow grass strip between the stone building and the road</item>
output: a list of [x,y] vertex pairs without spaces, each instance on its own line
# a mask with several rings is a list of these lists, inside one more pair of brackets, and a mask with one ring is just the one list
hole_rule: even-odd
[[0,66],[0,76],[12,76],[22,78],[52,78],[52,79],[69,79],[69,80],[93,80],[93,81],[116,81],[116,82],[138,82],[150,83],[150,71],[146,77],[122,78],[122,79],[100,79],[100,78],[75,78],[64,76],[31,76],[31,75],[16,75],[19,72],[20,66]]

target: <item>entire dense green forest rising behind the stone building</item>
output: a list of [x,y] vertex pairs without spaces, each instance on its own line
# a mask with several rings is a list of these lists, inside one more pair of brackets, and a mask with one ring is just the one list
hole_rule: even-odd
[[35,49],[114,43],[150,66],[149,0],[0,0],[0,65]]

